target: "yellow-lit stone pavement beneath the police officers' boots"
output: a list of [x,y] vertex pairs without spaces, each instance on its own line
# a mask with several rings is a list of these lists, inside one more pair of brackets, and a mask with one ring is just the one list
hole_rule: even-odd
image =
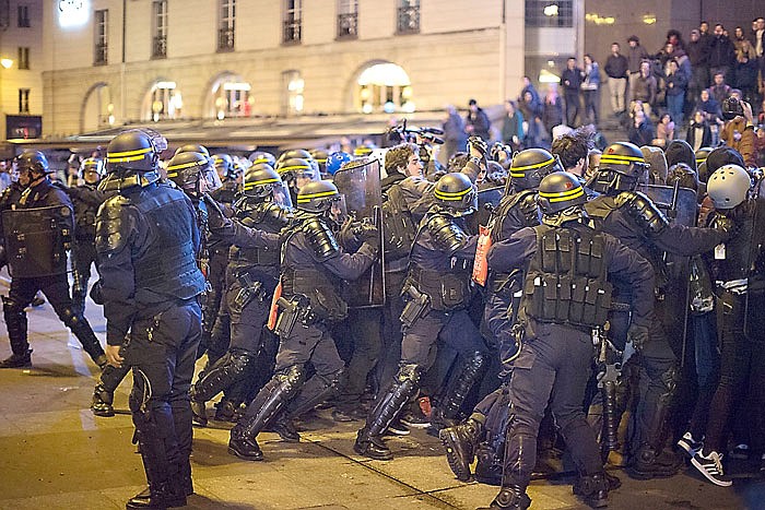
[[[104,339],[99,307],[87,317]],[[89,405],[98,368],[79,347],[49,305],[28,310],[34,353],[30,369],[0,370],[0,509],[117,509],[145,484],[140,455],[130,443],[127,411],[130,379],[118,390],[110,418]],[[0,327],[0,357],[10,354]],[[491,502],[495,487],[458,482],[440,442],[424,431],[396,438],[393,461],[353,452],[361,423],[338,424],[327,411],[304,424],[299,443],[263,432],[266,460],[247,462],[226,453],[231,425],[195,428],[192,509],[473,509]],[[673,478],[637,482],[615,470],[623,486],[610,508],[639,510],[763,509],[765,483],[737,479],[719,488],[688,471]],[[572,478],[534,481],[532,509],[582,509]]]

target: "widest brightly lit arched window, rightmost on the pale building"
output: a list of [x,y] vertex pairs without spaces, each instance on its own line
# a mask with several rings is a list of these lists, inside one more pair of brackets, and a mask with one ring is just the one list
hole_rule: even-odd
[[349,83],[346,97],[350,109],[362,114],[412,112],[415,109],[409,73],[388,60],[370,60],[360,67]]

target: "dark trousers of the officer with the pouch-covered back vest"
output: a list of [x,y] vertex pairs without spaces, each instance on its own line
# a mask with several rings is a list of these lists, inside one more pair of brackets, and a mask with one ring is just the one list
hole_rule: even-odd
[[579,474],[602,471],[595,432],[582,411],[592,356],[588,333],[558,324],[537,324],[537,337],[523,344],[510,378],[503,486],[528,486],[548,402]]

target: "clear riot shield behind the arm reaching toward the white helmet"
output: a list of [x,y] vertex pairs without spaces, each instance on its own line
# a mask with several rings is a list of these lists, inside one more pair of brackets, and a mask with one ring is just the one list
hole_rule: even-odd
[[[696,192],[688,188],[660,185],[643,185],[638,191],[645,193],[667,216],[671,224],[696,225]],[[661,254],[663,275],[657,274],[657,283],[663,289],[663,300],[657,315],[671,340],[675,354],[684,355],[690,308],[690,258],[672,253]]]

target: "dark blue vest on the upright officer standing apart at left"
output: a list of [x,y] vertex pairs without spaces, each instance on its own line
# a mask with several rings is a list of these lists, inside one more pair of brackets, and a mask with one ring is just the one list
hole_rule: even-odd
[[142,288],[179,299],[195,297],[204,290],[205,282],[195,258],[189,207],[169,188],[154,190],[151,195],[140,193],[140,202],[131,201],[150,230],[150,246],[138,247],[143,254],[133,259],[137,298]]

